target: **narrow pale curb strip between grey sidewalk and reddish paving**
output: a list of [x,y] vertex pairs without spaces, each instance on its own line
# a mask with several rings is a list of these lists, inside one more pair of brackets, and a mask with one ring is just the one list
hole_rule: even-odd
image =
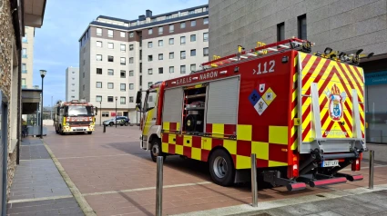
[[82,193],[76,188],[76,184],[71,181],[65,169],[62,167],[60,162],[57,160],[54,152],[51,151],[50,147],[42,140],[43,144],[46,147],[47,152],[50,154],[51,159],[56,164],[56,169],[62,175],[63,180],[66,182],[68,189],[73,194],[74,198],[76,198],[76,202],[78,202],[79,207],[84,212],[86,216],[97,216],[96,212],[91,208],[91,206],[87,203],[86,199],[82,196]]

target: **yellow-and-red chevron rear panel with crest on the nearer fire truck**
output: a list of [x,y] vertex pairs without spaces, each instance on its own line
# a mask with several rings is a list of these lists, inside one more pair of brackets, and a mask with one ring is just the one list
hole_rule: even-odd
[[[311,83],[317,83],[321,134],[326,138],[347,138],[352,134],[352,89],[357,91],[364,137],[364,90],[362,69],[311,54],[299,53],[302,95],[311,95]],[[302,97],[302,142],[314,140],[311,97]]]

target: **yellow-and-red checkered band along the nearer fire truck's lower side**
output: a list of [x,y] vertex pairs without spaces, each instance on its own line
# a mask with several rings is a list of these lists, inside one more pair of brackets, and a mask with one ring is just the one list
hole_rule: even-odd
[[236,140],[162,133],[161,149],[162,152],[185,155],[188,158],[207,162],[210,151],[217,146],[222,146],[231,155],[236,169],[249,169],[251,167],[251,153],[256,153],[258,167],[288,166],[289,128],[287,126],[269,126],[269,142],[253,141],[251,125],[238,124],[236,130]]

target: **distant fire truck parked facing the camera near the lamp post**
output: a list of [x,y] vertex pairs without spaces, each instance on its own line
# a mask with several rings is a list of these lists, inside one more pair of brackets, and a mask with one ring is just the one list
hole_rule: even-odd
[[92,134],[96,123],[97,107],[84,100],[70,102],[58,101],[56,103],[54,126],[56,133]]

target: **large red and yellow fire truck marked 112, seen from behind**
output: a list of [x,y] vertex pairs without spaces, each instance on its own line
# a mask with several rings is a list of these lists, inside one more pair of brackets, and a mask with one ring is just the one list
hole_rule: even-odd
[[[291,38],[202,64],[152,85],[138,108],[140,145],[157,156],[209,162],[214,182],[250,181],[250,155],[263,181],[288,190],[360,181],[364,78],[356,53],[311,54]],[[207,68],[206,68],[207,67]]]

